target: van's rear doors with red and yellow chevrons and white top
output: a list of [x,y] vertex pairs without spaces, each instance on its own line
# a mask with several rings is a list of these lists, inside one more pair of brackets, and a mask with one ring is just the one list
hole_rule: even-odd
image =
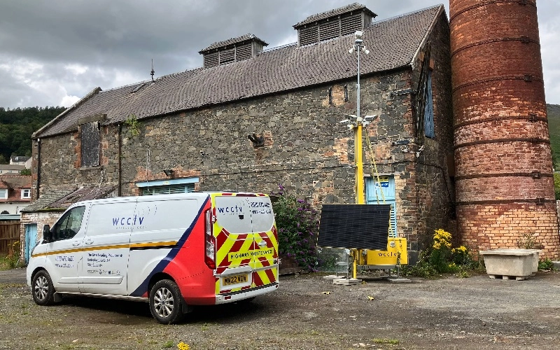
[[274,283],[278,243],[267,196],[213,195],[216,238],[216,294]]

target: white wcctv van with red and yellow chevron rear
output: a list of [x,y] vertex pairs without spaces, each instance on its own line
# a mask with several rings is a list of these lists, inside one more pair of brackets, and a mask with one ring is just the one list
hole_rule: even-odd
[[27,266],[37,304],[62,295],[148,301],[160,323],[190,305],[251,300],[278,288],[267,195],[184,193],[78,202],[43,228]]

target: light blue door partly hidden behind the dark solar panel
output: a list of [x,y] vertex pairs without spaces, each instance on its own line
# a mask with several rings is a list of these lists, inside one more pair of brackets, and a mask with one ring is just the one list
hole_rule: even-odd
[[389,237],[397,237],[397,207],[395,201],[395,178],[380,175],[365,181],[365,200],[367,204],[391,204],[391,222]]

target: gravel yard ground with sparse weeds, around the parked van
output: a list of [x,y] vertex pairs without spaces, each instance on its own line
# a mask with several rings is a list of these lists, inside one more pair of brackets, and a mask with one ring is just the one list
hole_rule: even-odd
[[197,307],[160,325],[148,304],[88,297],[39,307],[25,269],[0,271],[0,349],[559,349],[560,274],[412,283],[281,277],[248,304]]

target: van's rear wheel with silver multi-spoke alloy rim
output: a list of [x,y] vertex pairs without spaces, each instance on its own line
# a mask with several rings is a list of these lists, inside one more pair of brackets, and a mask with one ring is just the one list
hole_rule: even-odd
[[183,316],[183,297],[174,281],[162,279],[150,290],[150,311],[159,323],[172,324]]

